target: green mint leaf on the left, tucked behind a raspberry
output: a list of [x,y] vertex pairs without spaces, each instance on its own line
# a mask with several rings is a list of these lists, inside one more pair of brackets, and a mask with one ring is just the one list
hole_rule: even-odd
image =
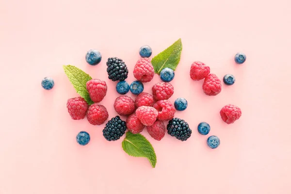
[[86,102],[91,105],[94,102],[91,100],[89,93],[86,89],[86,82],[92,80],[92,78],[81,69],[73,65],[63,65],[65,74],[69,78],[69,81],[73,84],[76,92],[83,97]]

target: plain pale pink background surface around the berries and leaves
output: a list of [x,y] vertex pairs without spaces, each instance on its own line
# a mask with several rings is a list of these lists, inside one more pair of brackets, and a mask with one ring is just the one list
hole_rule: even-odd
[[[287,194],[291,193],[290,0],[0,0],[0,194]],[[107,142],[102,126],[72,120],[66,100],[78,97],[62,65],[76,65],[105,80],[101,104],[116,113],[116,82],[106,75],[108,57],[129,67],[147,44],[155,56],[182,39],[183,51],[172,84],[189,106],[176,114],[193,130],[186,142],[166,136],[158,142],[146,131],[157,154],[156,168],[128,156],[122,139]],[[97,66],[85,62],[98,49]],[[236,65],[236,52],[247,60]],[[190,65],[201,61],[233,86],[203,94]],[[55,87],[46,91],[42,78]],[[155,75],[145,91],[161,81]],[[129,94],[133,97],[131,94]],[[242,117],[225,124],[220,109],[232,103]],[[220,137],[212,150],[197,125],[210,124]],[[87,146],[75,137],[91,135]]]

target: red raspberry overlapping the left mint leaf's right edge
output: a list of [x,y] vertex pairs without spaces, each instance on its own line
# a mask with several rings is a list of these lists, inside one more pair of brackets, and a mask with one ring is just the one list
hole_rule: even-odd
[[86,88],[93,102],[101,102],[107,92],[106,82],[98,79],[92,79],[87,81]]

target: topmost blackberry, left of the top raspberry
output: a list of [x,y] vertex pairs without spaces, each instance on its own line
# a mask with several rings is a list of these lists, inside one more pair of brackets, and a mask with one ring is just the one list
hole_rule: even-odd
[[108,78],[112,81],[125,81],[129,74],[126,64],[117,57],[110,57],[107,60]]

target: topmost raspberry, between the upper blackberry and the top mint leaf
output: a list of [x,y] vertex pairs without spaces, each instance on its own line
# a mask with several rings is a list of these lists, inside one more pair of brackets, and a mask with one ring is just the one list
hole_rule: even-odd
[[148,58],[142,58],[136,62],[133,69],[133,76],[141,82],[148,82],[155,75],[154,67]]

